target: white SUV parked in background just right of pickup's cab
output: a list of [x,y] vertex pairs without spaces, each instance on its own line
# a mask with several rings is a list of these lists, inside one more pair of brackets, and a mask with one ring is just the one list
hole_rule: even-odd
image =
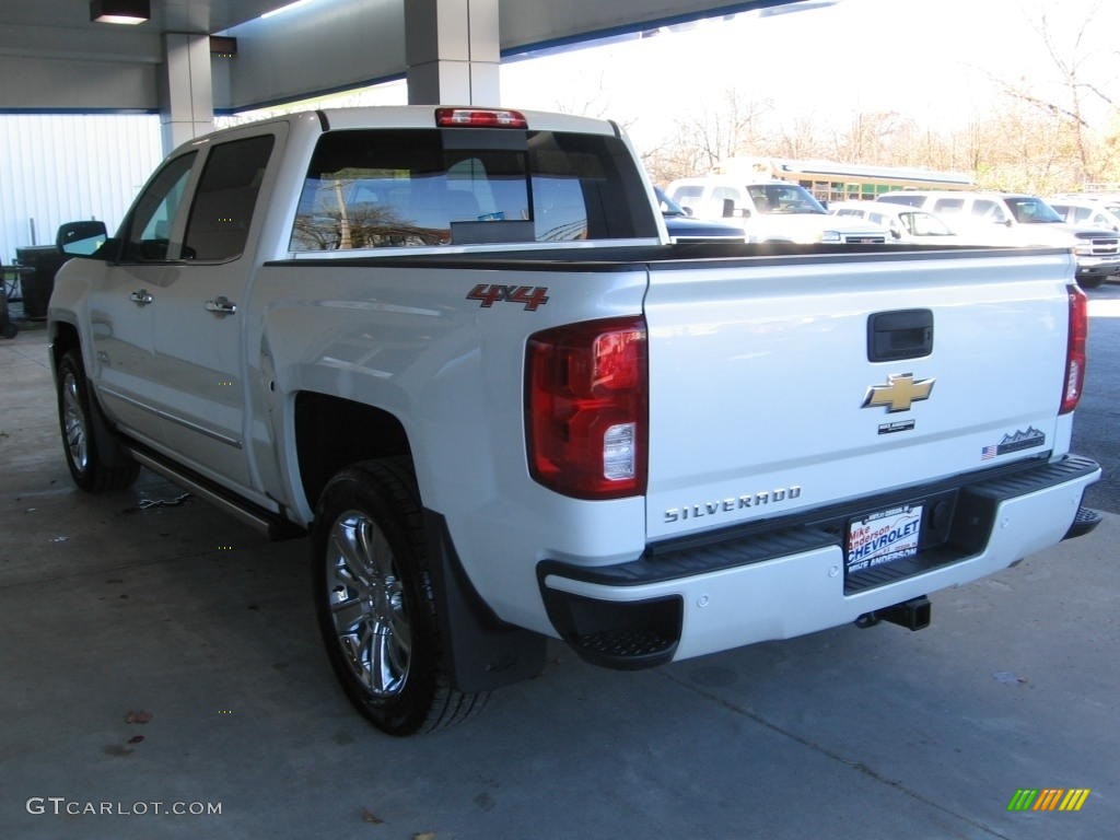
[[886,231],[877,225],[830,216],[808,189],[793,181],[704,176],[679,178],[665,192],[697,218],[741,225],[748,242],[887,241]]

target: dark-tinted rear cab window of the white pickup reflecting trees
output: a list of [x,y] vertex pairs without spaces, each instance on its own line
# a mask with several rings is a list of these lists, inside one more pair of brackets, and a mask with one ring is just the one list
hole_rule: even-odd
[[339,129],[304,180],[290,250],[657,235],[617,138],[552,131]]

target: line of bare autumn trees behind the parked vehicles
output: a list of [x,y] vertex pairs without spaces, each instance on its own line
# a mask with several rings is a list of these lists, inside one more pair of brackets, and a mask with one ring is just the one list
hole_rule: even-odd
[[729,88],[718,105],[678,119],[645,164],[659,183],[710,171],[735,156],[963,171],[981,186],[1042,194],[1120,183],[1120,103],[1112,93],[1120,50],[1096,46],[1103,1],[1070,2],[1053,20],[1036,7],[1028,22],[1037,40],[1021,45],[1034,62],[1030,76],[982,71],[999,96],[964,128],[941,129],[900,111],[857,112],[837,128]]

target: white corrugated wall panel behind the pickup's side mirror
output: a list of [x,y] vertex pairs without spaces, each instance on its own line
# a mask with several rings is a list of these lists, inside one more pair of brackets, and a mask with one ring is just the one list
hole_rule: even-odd
[[158,115],[0,116],[0,262],[53,243],[63,222],[113,233],[162,156]]

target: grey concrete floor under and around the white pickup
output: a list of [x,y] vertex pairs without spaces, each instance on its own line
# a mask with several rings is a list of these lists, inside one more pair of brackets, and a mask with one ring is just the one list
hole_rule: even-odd
[[[1118,836],[1118,516],[934,594],[920,633],[638,673],[554,645],[482,717],[398,740],[335,687],[305,541],[140,507],[177,495],[73,489],[44,332],[0,342],[0,837]],[[1092,793],[1008,812],[1024,787]]]

